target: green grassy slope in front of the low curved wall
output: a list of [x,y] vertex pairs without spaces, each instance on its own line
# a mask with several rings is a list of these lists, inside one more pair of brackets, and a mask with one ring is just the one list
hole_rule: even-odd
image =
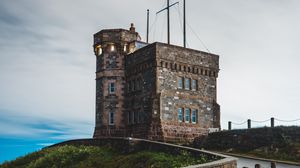
[[62,146],[44,149],[20,157],[14,161],[5,162],[1,168],[60,168],[60,167],[182,167],[206,162],[207,159],[194,158],[188,153],[170,155],[163,152],[140,151],[122,154],[110,147]]

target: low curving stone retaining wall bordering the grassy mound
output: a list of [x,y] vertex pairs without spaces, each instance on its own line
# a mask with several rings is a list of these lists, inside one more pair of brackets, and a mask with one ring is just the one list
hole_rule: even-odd
[[[189,168],[236,168],[237,159],[234,157],[221,155],[205,150],[199,150],[190,147],[184,147],[169,143],[155,142],[144,139],[136,138],[101,138],[101,139],[78,139],[70,140],[62,143],[52,145],[50,147],[62,146],[62,145],[90,145],[90,146],[113,146],[122,150],[124,153],[135,151],[158,151],[171,154],[180,154],[183,151],[191,153],[194,157],[207,156],[211,160],[215,160],[205,164],[191,165]],[[48,147],[49,148],[49,147]]]

